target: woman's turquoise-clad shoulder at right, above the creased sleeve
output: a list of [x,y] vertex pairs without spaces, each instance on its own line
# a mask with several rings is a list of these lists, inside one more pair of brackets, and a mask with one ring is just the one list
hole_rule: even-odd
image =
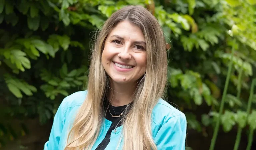
[[152,112],[153,122],[161,127],[167,122],[184,122],[186,123],[186,116],[183,112],[172,106],[163,99],[159,99]]

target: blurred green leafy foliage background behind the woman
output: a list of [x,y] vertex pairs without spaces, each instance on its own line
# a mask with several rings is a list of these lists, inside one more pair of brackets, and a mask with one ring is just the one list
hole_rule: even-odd
[[126,5],[163,28],[186,149],[255,150],[255,0],[0,0],[0,149],[43,149],[63,98],[86,88],[96,29]]

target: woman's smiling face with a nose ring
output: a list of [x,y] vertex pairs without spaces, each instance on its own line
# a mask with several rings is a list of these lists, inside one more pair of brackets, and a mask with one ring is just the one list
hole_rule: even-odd
[[134,83],[146,71],[146,43],[138,26],[125,20],[108,35],[101,56],[113,82]]

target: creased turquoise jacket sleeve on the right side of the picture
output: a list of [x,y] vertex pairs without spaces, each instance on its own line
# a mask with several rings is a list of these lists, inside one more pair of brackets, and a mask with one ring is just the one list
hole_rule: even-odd
[[187,121],[184,114],[170,118],[155,137],[159,150],[185,150]]

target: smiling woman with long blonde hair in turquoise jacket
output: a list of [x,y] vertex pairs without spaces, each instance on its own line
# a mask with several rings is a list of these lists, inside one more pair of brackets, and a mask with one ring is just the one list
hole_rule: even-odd
[[66,97],[45,150],[185,150],[185,115],[162,99],[163,31],[141,6],[116,11],[96,39],[88,88]]

